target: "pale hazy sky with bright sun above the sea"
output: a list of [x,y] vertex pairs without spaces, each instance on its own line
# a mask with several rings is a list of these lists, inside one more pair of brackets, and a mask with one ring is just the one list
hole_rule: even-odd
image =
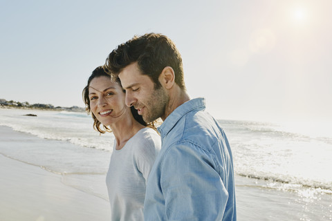
[[176,44],[191,98],[216,119],[332,122],[332,1],[0,0],[0,98],[82,106],[133,35]]

